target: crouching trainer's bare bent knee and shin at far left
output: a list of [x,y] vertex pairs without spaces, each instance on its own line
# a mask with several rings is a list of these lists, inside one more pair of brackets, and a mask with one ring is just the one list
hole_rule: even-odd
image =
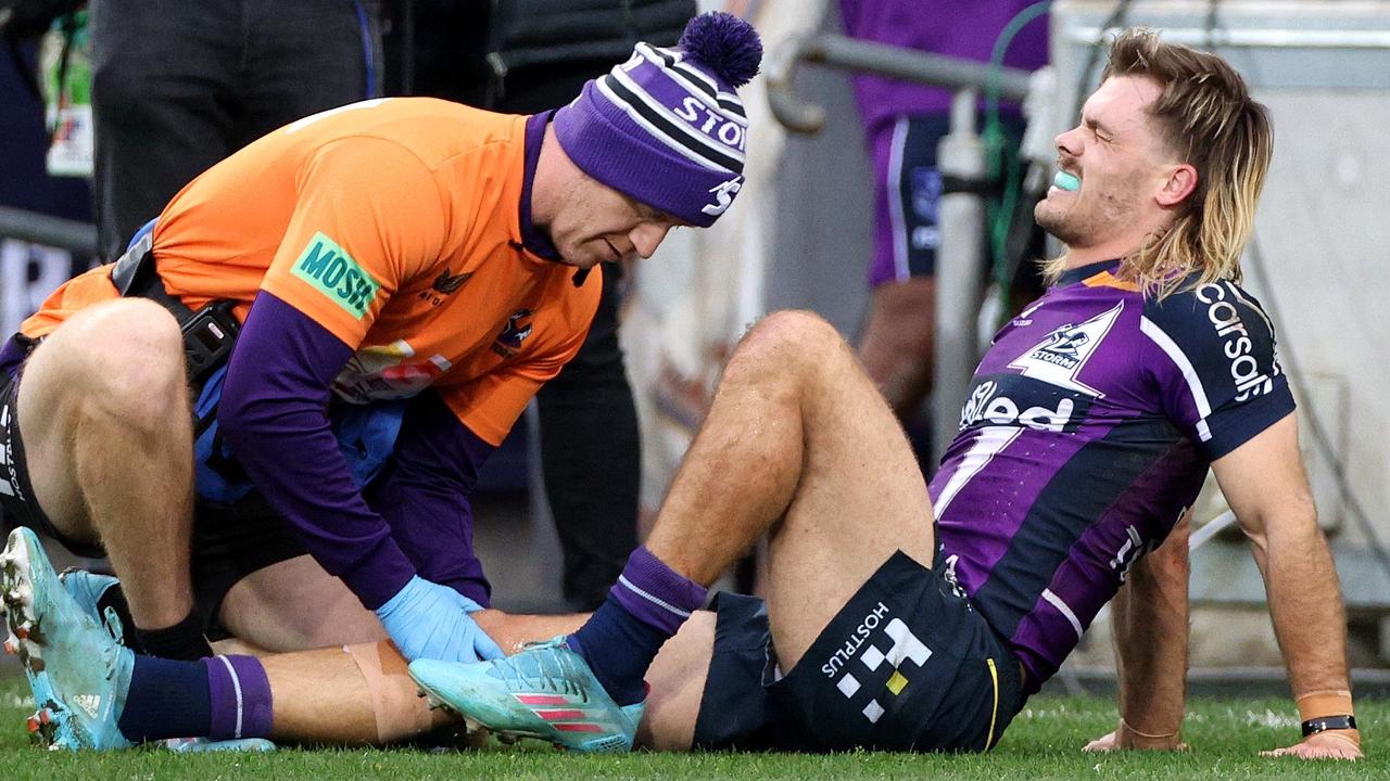
[[104,545],[136,627],[188,617],[193,443],[174,317],[143,299],[74,314],[26,361],[18,416],[39,506]]

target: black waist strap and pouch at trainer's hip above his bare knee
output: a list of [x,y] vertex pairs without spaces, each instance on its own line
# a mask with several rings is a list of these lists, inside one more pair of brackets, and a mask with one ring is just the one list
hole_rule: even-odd
[[235,302],[213,302],[199,311],[183,306],[183,302],[164,289],[164,281],[154,268],[154,253],[150,252],[153,242],[153,235],[146,232],[131,245],[113,265],[111,283],[122,296],[149,299],[174,315],[183,332],[189,384],[202,388],[231,357],[232,345],[242,329],[232,314]]

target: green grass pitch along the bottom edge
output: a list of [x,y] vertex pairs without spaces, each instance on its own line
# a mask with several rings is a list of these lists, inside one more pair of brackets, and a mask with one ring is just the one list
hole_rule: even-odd
[[371,778],[493,780],[537,778],[902,778],[1027,780],[1045,778],[1387,778],[1390,755],[1377,753],[1390,734],[1383,724],[1390,700],[1358,703],[1364,745],[1361,763],[1304,763],[1264,759],[1261,749],[1290,742],[1297,716],[1287,700],[1215,700],[1191,703],[1182,755],[1086,755],[1080,746],[1115,724],[1106,699],[1034,698],[987,756],[913,756],[848,753],[798,755],[657,755],[573,757],[541,743],[493,746],[480,752],[428,753],[417,749],[282,749],[271,755],[175,756],[140,749],[121,753],[43,752],[29,743],[24,718],[32,712],[22,680],[0,682],[0,766],[6,778],[43,780],[213,780]]

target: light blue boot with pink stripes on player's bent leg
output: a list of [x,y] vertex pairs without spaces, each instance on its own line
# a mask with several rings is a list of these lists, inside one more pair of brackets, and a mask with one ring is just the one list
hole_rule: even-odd
[[492,661],[420,659],[410,663],[410,677],[431,706],[461,713],[470,727],[486,727],[502,739],[539,738],[574,752],[631,750],[646,707],[613,702],[563,636]]

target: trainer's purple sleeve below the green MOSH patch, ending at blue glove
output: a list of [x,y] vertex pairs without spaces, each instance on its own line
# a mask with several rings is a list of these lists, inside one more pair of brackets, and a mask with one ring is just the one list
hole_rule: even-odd
[[353,482],[328,425],[328,393],[352,347],[275,296],[252,306],[217,422],[236,460],[314,559],[368,609],[416,574]]

